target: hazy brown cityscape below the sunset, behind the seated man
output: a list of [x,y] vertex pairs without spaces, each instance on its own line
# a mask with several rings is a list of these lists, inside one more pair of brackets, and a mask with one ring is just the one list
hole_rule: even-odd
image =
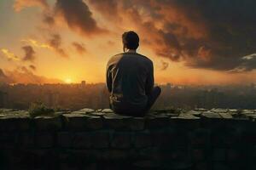
[[[256,108],[256,85],[183,86],[160,85],[162,94],[154,109],[168,108]],[[1,84],[0,108],[26,110],[32,102],[51,108],[78,110],[108,108],[108,91],[104,83],[87,84]]]

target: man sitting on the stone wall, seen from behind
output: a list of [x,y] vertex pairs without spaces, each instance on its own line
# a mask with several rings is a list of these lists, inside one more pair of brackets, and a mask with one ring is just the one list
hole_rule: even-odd
[[160,95],[154,88],[153,62],[137,54],[139,37],[128,31],[122,36],[124,53],[114,55],[107,65],[110,107],[119,114],[143,116]]

